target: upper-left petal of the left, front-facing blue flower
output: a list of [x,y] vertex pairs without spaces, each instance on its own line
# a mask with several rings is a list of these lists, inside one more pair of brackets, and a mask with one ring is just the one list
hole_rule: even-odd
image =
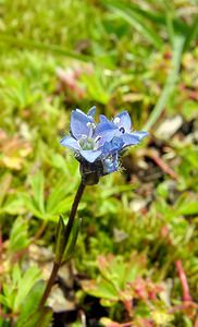
[[82,135],[89,134],[88,122],[92,122],[92,118],[87,117],[82,110],[73,110],[71,114],[71,133],[78,140]]

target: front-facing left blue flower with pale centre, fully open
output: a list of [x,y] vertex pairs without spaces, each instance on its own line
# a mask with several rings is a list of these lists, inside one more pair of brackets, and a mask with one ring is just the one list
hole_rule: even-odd
[[103,144],[110,142],[116,133],[116,126],[104,121],[96,124],[94,116],[96,108],[92,107],[87,114],[76,109],[71,114],[71,135],[65,136],[61,144],[73,149],[77,159],[95,162],[102,154]]

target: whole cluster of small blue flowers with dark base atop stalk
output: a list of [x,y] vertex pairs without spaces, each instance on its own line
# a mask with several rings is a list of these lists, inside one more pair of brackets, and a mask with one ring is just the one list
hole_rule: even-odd
[[61,144],[74,150],[81,162],[85,183],[95,184],[101,175],[116,171],[119,156],[124,148],[138,144],[147,132],[132,132],[132,121],[127,111],[111,121],[103,114],[95,121],[96,107],[87,114],[76,109],[71,114],[70,134]]

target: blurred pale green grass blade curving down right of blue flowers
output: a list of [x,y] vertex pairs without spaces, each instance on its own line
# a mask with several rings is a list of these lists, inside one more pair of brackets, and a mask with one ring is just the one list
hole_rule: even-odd
[[168,75],[164,88],[153,108],[149,120],[147,121],[146,125],[144,126],[145,130],[149,130],[156,123],[160,114],[162,113],[170,96],[172,95],[175,84],[177,82],[178,72],[181,68],[181,60],[182,53],[184,49],[184,41],[185,38],[183,36],[175,36],[174,37],[174,46],[173,46],[173,57],[170,73]]

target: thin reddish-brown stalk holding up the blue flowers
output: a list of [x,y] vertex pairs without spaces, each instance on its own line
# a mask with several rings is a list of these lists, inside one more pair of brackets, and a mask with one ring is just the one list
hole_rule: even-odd
[[[72,205],[72,209],[71,209],[71,213],[70,213],[70,217],[69,217],[69,222],[67,222],[66,229],[65,229],[65,240],[66,240],[65,247],[66,247],[70,234],[71,234],[71,231],[72,231],[72,227],[73,227],[73,223],[74,223],[74,218],[75,218],[77,207],[78,207],[78,204],[79,204],[79,201],[82,198],[84,190],[85,190],[85,184],[83,184],[83,182],[81,182],[81,184],[77,189],[73,205]],[[61,255],[63,255],[65,247],[63,249]],[[55,278],[57,278],[59,268],[61,267],[61,261],[62,261],[62,257],[60,258],[59,262],[55,262],[55,261],[53,262],[53,268],[51,270],[50,278],[48,280],[48,283],[46,286],[46,290],[45,290],[44,295],[42,295],[42,298],[40,300],[40,303],[39,303],[39,308],[40,310],[44,308],[45,303],[46,303],[46,301],[47,301],[47,299],[50,294],[50,291],[51,291],[51,288],[54,283]]]

